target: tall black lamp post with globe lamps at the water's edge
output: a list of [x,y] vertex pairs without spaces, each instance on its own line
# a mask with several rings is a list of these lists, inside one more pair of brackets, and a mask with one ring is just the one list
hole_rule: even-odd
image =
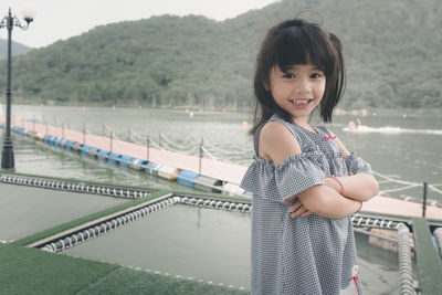
[[30,22],[33,21],[33,17],[24,15],[24,21],[27,23],[22,25],[20,20],[15,15],[12,15],[11,9],[9,9],[8,15],[6,15],[0,22],[0,29],[8,29],[7,133],[3,140],[3,150],[1,152],[1,169],[9,171],[15,171],[11,138],[11,34],[14,27],[27,30]]

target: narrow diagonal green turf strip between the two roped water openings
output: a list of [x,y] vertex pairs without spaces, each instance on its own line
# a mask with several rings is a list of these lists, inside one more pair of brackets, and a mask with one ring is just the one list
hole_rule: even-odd
[[133,201],[129,201],[129,202],[126,202],[126,203],[123,203],[123,204],[119,204],[119,206],[116,206],[116,207],[113,207],[113,208],[109,208],[109,209],[106,209],[106,210],[103,210],[103,211],[99,211],[99,212],[96,212],[96,213],[93,213],[93,214],[90,214],[90,215],[84,217],[84,218],[80,218],[80,219],[76,219],[76,220],[73,220],[73,221],[56,225],[56,226],[54,226],[52,229],[48,229],[48,230],[38,232],[38,233],[29,235],[29,236],[25,236],[23,239],[17,240],[15,242],[13,242],[13,244],[15,244],[15,245],[28,245],[28,244],[31,244],[31,243],[33,243],[35,241],[39,241],[39,240],[42,240],[44,238],[51,236],[53,234],[56,234],[59,232],[72,229],[74,226],[78,226],[78,225],[81,225],[83,223],[86,223],[86,222],[90,222],[90,221],[106,217],[108,214],[125,210],[127,208],[134,207],[134,206],[143,203],[143,202],[147,202],[149,200],[154,200],[154,199],[156,199],[158,197],[161,197],[161,196],[165,196],[166,193],[169,193],[169,192],[170,191],[166,191],[166,190],[158,191],[158,192],[155,192],[155,193],[152,193],[150,196],[147,196],[145,198],[135,199]]

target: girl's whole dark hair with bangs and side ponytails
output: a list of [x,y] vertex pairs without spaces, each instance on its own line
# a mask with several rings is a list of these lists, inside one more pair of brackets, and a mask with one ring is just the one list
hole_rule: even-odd
[[312,63],[326,75],[320,117],[332,122],[332,114],[345,91],[345,66],[341,44],[334,34],[319,25],[301,19],[284,21],[269,30],[256,57],[254,76],[254,134],[273,114],[292,122],[291,115],[280,107],[270,91],[270,71],[277,65],[286,72],[296,64]]

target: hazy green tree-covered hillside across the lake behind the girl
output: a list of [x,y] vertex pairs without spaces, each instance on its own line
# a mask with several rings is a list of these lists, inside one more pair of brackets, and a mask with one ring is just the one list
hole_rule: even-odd
[[440,0],[285,0],[223,22],[162,15],[97,27],[14,57],[13,88],[35,103],[248,106],[265,31],[297,15],[344,43],[341,107],[442,107]]

